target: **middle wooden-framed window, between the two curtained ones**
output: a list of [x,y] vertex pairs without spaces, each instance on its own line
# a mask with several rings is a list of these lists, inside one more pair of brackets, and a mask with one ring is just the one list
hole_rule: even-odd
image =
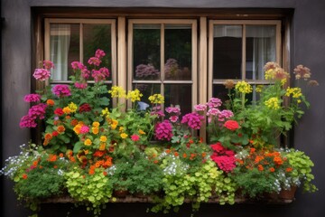
[[197,102],[197,29],[195,20],[129,20],[129,89],[144,100],[161,93],[165,107],[189,113]]

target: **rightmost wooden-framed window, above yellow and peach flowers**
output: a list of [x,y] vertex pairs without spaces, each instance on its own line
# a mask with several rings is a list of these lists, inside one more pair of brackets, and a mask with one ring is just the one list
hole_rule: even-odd
[[209,96],[227,99],[225,80],[267,84],[265,63],[281,63],[280,31],[281,21],[210,21]]

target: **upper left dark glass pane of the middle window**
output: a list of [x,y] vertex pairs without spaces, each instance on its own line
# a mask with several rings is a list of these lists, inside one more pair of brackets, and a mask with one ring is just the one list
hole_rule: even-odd
[[161,64],[160,24],[135,24],[133,69],[135,80],[159,80]]

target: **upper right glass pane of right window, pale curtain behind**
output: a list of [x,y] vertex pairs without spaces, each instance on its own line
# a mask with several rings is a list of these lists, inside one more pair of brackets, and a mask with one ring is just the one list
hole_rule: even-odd
[[264,80],[263,67],[275,61],[275,25],[246,26],[246,79]]

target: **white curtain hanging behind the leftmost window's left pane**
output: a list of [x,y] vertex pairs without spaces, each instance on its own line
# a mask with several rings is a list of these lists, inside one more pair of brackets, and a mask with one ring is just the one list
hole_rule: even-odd
[[68,80],[68,55],[70,48],[70,24],[51,24],[52,80]]

